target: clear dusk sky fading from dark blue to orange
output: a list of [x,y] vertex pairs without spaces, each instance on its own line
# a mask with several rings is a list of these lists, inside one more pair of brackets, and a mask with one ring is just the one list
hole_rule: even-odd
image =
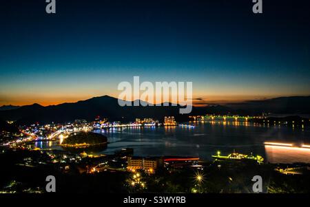
[[310,95],[310,7],[263,0],[0,1],[0,105],[118,96],[192,81],[207,102]]

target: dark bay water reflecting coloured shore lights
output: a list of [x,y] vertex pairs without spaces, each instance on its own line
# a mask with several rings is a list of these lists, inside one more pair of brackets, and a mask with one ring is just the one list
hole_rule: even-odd
[[[180,155],[198,156],[211,160],[211,155],[220,150],[223,155],[232,151],[254,153],[267,158],[268,162],[299,162],[304,155],[296,151],[265,149],[265,141],[304,142],[310,144],[310,130],[273,124],[251,124],[249,122],[190,122],[191,127],[131,127],[97,130],[108,138],[107,149],[101,153],[114,153],[117,149],[134,148],[134,155]],[[38,147],[51,148],[50,144]],[[53,143],[52,148],[56,144]],[[59,146],[58,146],[59,149]],[[292,153],[292,154],[291,154]],[[307,155],[310,157],[309,155]],[[309,160],[306,160],[310,162]]]

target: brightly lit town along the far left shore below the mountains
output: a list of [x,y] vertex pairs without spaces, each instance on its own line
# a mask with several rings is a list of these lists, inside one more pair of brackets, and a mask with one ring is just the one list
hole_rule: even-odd
[[[159,127],[176,126],[173,116],[165,116],[164,123],[160,123],[153,118],[136,118],[134,122],[122,123],[119,121],[109,122],[107,118],[99,116],[92,122],[86,120],[74,120],[63,124],[31,124],[29,126],[20,126],[17,133],[1,132],[0,146],[9,146],[10,148],[28,148],[32,149],[29,142],[53,141],[60,139],[62,142],[71,133],[79,131],[92,131],[94,129],[110,129],[114,127]],[[31,147],[30,147],[31,146]]]

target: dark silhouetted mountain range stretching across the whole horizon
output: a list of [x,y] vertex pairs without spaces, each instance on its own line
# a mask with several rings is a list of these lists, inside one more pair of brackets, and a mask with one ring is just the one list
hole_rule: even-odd
[[[132,102],[133,103],[133,102]],[[271,113],[310,113],[310,96],[282,97],[269,100],[256,100],[230,105],[193,107],[192,113],[180,115],[176,107],[121,107],[118,99],[111,96],[94,97],[74,103],[63,103],[43,107],[39,104],[27,105],[18,109],[0,111],[0,119],[17,120],[18,124],[70,122],[76,119],[94,120],[96,116],[110,121],[133,121],[135,118],[155,118],[163,121],[165,116],[175,116],[177,121],[185,121],[189,115],[206,113],[259,114]]]

